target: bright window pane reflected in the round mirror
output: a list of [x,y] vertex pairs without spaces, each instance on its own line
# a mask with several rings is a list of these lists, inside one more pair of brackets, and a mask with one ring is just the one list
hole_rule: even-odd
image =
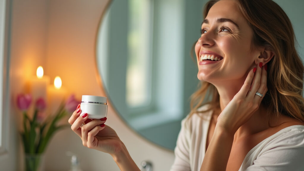
[[126,71],[126,105],[149,106],[151,102],[153,3],[129,0],[128,61]]

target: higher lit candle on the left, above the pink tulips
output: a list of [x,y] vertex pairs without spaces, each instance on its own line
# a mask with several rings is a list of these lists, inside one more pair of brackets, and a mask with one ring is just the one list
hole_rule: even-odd
[[47,100],[47,86],[50,84],[50,77],[43,76],[43,68],[39,66],[36,71],[36,76],[31,81],[31,92],[33,100],[36,101],[38,98]]

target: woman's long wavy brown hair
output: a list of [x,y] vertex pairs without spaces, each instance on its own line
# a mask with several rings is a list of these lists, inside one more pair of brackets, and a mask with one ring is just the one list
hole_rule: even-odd
[[[210,8],[219,0],[207,2],[206,18]],[[235,0],[240,13],[253,30],[253,46],[267,47],[274,52],[268,62],[268,92],[262,104],[269,113],[296,118],[304,122],[303,73],[304,67],[295,48],[292,24],[283,9],[272,0]],[[209,104],[207,110],[199,112],[200,106]],[[219,93],[214,85],[201,81],[191,96],[190,116],[219,108]]]

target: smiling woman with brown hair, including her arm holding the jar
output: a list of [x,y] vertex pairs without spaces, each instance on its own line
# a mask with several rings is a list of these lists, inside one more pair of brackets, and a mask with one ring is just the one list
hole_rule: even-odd
[[[304,68],[285,12],[271,0],[220,0],[204,15],[195,45],[202,86],[171,170],[304,170]],[[139,170],[106,118],[81,127],[88,116],[79,113],[69,123],[84,146]]]

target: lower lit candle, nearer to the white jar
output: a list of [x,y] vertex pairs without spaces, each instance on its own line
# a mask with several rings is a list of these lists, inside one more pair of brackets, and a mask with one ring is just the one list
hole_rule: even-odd
[[54,86],[49,85],[48,96],[49,96],[49,110],[50,113],[54,114],[60,104],[64,101],[66,95],[66,89],[61,86],[62,82],[59,76],[54,79]]

